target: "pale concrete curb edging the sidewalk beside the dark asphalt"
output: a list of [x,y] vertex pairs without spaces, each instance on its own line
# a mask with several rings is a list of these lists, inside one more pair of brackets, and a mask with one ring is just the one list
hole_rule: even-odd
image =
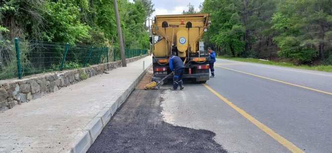
[[103,128],[110,121],[111,116],[115,114],[116,110],[126,101],[130,93],[134,90],[136,85],[143,79],[149,71],[152,63],[145,69],[140,76],[116,99],[111,101],[103,111],[101,111],[90,123],[85,127],[86,132],[81,137],[75,146],[73,146],[69,153],[86,153],[91,147],[93,142],[97,139],[98,135],[102,132]]

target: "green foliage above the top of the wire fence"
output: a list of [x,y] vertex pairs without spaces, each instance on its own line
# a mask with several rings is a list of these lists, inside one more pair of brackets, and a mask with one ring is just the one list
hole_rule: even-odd
[[[126,47],[147,47],[146,18],[151,0],[118,0]],[[0,2],[1,39],[37,39],[112,46],[117,31],[111,0],[4,0]],[[145,42],[146,41],[146,42]]]

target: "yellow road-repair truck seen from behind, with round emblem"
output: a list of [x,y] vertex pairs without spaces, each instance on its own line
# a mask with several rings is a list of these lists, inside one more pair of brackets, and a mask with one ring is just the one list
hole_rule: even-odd
[[156,15],[151,27],[154,37],[150,39],[154,76],[170,74],[167,56],[176,55],[185,66],[184,79],[200,83],[209,80],[210,56],[200,41],[209,24],[209,14]]

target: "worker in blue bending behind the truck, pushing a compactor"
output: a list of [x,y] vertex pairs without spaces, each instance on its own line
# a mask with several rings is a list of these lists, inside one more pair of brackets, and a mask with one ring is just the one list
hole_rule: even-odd
[[180,85],[180,90],[184,89],[182,76],[184,73],[184,64],[180,57],[172,55],[171,57],[168,56],[169,59],[169,69],[174,72],[173,78],[173,89],[177,90],[177,87]]

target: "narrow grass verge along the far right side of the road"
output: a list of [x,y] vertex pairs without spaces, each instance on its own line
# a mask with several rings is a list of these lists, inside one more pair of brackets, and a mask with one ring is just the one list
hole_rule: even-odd
[[289,67],[289,68],[298,68],[298,69],[305,69],[305,70],[332,72],[332,65],[317,65],[317,66],[294,65],[292,63],[266,61],[266,60],[259,60],[259,59],[255,59],[255,58],[239,58],[239,57],[231,57],[231,56],[227,56],[227,55],[218,56],[218,58],[234,60],[234,61],[241,61],[241,62],[260,63],[260,64]]

